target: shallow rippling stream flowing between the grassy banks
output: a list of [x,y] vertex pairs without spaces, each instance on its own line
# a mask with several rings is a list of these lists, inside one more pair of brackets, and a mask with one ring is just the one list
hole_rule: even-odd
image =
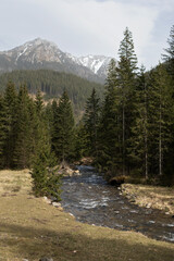
[[160,210],[139,208],[107,184],[91,166],[77,166],[80,175],[63,178],[62,207],[77,221],[123,231],[136,231],[174,243],[174,219]]

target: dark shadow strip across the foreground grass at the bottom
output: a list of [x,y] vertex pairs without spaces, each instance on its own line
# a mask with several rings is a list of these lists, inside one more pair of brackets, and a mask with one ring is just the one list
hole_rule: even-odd
[[[2,246],[7,249],[5,251],[10,251],[10,254],[14,253],[14,257],[17,257],[14,260],[35,261],[41,257],[51,257],[53,261],[174,260],[174,245],[164,244],[163,246],[163,243],[156,241],[150,241],[150,245],[147,239],[145,243],[144,239],[138,241],[138,236],[130,234],[127,234],[129,238],[125,235],[122,237],[121,234],[116,237],[97,238],[88,236],[87,232],[84,233],[77,226],[71,227],[69,232],[54,232],[0,223],[0,249]],[[5,235],[4,238],[3,235]],[[1,250],[0,254],[2,254]]]

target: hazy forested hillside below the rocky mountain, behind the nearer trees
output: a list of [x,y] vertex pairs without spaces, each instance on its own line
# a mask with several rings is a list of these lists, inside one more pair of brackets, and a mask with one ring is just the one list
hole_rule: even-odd
[[46,100],[59,98],[66,89],[76,115],[84,110],[86,99],[90,96],[92,88],[100,98],[103,97],[104,91],[103,85],[88,82],[73,74],[49,70],[5,73],[0,76],[0,92],[4,91],[9,80],[14,83],[17,89],[25,84],[29,94],[36,94],[40,89],[45,94],[44,99]]

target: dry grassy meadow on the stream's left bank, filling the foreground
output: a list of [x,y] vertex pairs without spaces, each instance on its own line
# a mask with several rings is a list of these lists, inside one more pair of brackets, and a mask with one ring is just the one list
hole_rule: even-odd
[[32,195],[28,171],[0,172],[0,261],[173,261],[174,245],[76,222]]

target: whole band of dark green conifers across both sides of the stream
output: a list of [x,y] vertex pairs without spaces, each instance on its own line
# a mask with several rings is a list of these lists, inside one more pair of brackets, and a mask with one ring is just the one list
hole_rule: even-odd
[[55,166],[83,157],[92,158],[108,178],[174,185],[174,26],[162,62],[150,71],[138,67],[126,28],[119,61],[111,60],[108,67],[104,91],[97,84],[86,96],[80,90],[83,98],[75,107],[69,88],[57,97],[54,86],[47,102],[42,86],[37,86],[35,97],[27,83],[10,80],[3,88],[1,83],[1,89],[0,167],[29,169],[36,195],[59,199],[61,176]]

